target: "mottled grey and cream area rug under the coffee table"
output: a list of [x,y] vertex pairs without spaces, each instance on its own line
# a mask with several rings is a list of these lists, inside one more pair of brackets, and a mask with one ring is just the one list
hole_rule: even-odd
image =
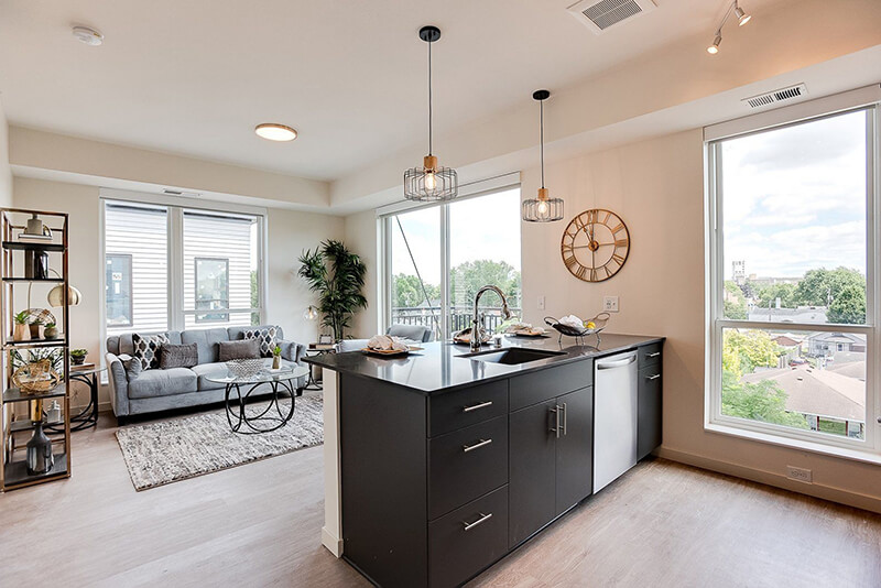
[[117,431],[117,440],[141,491],[320,445],[322,416],[320,396],[301,396],[291,421],[270,433],[232,433],[219,412],[128,426]]

